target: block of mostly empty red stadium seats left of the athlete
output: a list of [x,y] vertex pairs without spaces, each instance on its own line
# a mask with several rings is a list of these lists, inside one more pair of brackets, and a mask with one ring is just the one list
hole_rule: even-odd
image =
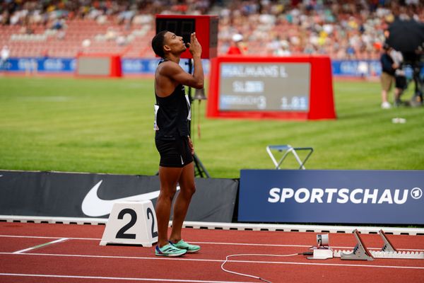
[[[66,32],[37,25],[33,33],[19,33],[20,27],[0,29],[1,45],[8,45],[12,57],[76,57],[78,53],[120,54],[122,57],[153,57],[149,41],[151,24],[126,30],[122,25],[99,24],[93,19],[66,21]],[[119,39],[125,41],[119,44]],[[88,42],[88,43],[86,43]]]

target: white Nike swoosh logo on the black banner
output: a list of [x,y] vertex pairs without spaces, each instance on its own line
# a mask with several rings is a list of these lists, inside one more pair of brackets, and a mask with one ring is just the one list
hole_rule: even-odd
[[[100,180],[97,184],[94,185],[84,197],[83,203],[81,204],[81,209],[83,213],[90,217],[99,217],[105,216],[112,212],[112,207],[114,202],[123,202],[123,201],[140,201],[140,200],[153,200],[159,196],[160,190],[155,190],[153,192],[146,192],[141,195],[133,195],[131,197],[122,197],[115,200],[102,200],[98,196],[98,190],[100,185],[102,185],[103,180]],[[177,186],[179,190],[179,186]]]

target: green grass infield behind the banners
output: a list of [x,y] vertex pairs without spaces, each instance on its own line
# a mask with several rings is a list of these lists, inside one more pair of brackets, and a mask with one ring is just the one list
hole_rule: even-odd
[[[424,108],[383,110],[380,97],[379,82],[335,81],[338,117],[319,121],[209,119],[194,101],[195,150],[213,178],[273,168],[270,144],[312,146],[307,169],[423,170]],[[154,175],[154,102],[153,79],[1,76],[0,169]]]

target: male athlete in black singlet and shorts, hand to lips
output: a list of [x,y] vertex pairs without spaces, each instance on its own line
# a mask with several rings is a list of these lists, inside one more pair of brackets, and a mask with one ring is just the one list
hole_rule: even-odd
[[[203,88],[204,71],[201,65],[201,45],[192,33],[187,43],[193,56],[194,71],[188,74],[179,66],[179,57],[187,50],[182,37],[162,31],[152,40],[155,54],[163,58],[155,73],[155,144],[160,154],[160,194],[156,202],[158,246],[155,255],[179,256],[196,253],[199,246],[182,241],[182,223],[187,214],[194,184],[194,148],[189,137],[190,102],[184,86]],[[180,191],[174,204],[172,231],[167,237],[172,199],[179,184]]]

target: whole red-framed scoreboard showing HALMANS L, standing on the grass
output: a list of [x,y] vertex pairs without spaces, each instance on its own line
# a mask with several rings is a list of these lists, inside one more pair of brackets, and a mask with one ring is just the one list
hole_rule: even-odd
[[213,58],[207,116],[335,119],[330,59]]

